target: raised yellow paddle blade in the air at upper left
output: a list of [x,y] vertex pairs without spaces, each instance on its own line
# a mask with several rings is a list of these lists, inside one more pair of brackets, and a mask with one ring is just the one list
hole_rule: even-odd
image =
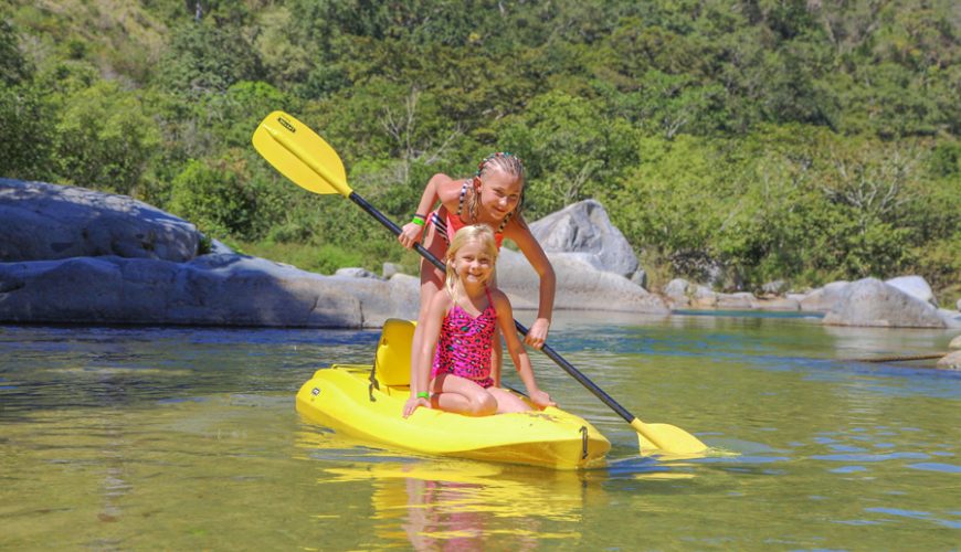
[[350,195],[344,162],[324,138],[293,115],[274,112],[254,131],[254,148],[281,174],[314,193]]

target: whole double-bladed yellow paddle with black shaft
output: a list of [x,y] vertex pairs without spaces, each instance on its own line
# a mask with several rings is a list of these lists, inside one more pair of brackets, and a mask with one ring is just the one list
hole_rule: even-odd
[[[339,193],[373,215],[393,235],[400,234],[401,230],[397,224],[347,185],[344,162],[334,148],[296,118],[283,112],[267,115],[257,126],[253,142],[261,156],[295,184],[314,193]],[[444,263],[423,246],[418,244],[415,250],[434,266],[444,269]],[[514,325],[521,335],[527,335],[524,325],[517,320]],[[637,420],[549,344],[545,343],[541,351],[631,424],[631,427],[637,432],[642,453],[659,449],[675,455],[698,455],[707,452],[707,445],[679,427],[669,424],[645,424]]]

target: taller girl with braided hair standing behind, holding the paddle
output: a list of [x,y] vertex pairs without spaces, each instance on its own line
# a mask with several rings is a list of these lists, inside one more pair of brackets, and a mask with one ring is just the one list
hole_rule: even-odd
[[[434,174],[421,197],[418,213],[426,213],[434,203],[441,206],[429,215],[415,214],[404,225],[398,241],[411,248],[420,242],[426,224],[424,247],[437,258],[443,258],[450,238],[465,224],[487,224],[497,229],[497,247],[505,237],[517,244],[540,278],[540,297],[537,319],[530,325],[525,342],[540,349],[547,340],[553,311],[556,276],[547,255],[530,233],[520,214],[524,192],[524,164],[517,156],[497,152],[480,161],[477,172],[468,179],[454,180],[446,174]],[[420,364],[420,347],[423,342],[424,316],[427,306],[443,286],[444,274],[426,259],[421,259],[421,306],[418,326],[414,329],[411,367]],[[492,282],[492,285],[494,283]],[[500,383],[500,343],[494,347],[495,385]]]

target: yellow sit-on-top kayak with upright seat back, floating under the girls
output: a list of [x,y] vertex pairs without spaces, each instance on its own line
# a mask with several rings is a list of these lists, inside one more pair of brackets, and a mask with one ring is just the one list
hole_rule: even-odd
[[306,418],[384,445],[422,454],[577,469],[603,463],[611,443],[560,408],[471,417],[431,408],[401,415],[410,396],[413,322],[384,323],[374,365],[318,370],[297,393]]

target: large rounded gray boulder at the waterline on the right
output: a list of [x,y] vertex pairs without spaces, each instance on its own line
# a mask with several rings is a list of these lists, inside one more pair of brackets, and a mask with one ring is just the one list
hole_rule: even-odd
[[854,282],[824,316],[826,325],[944,328],[938,309],[875,278]]

